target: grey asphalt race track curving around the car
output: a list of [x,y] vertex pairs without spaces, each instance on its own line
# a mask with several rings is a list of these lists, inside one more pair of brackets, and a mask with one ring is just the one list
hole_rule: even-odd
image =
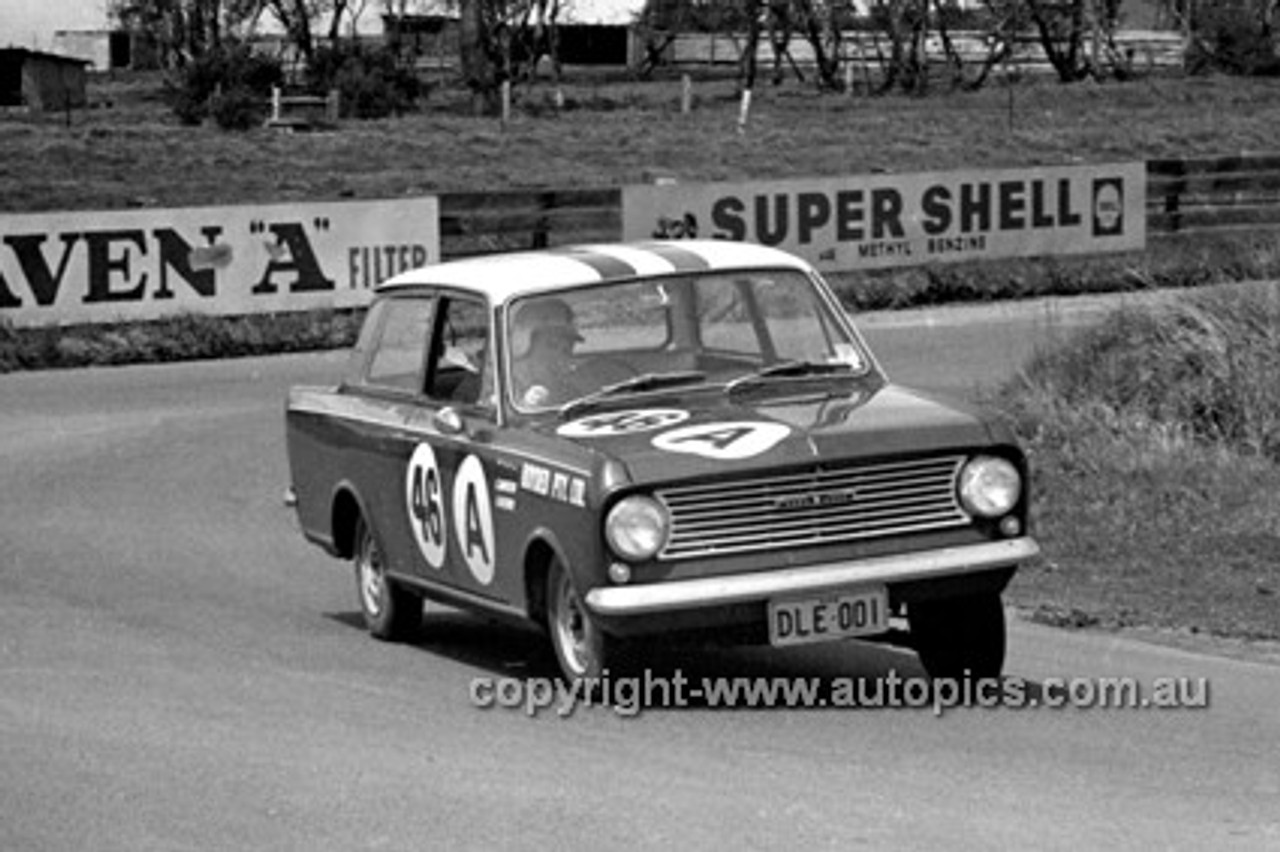
[[[865,329],[897,379],[968,393],[1091,316]],[[476,678],[550,672],[539,637],[431,608],[420,642],[370,640],[282,507],[285,388],[340,362],[0,376],[0,849],[1280,848],[1280,668],[1130,638],[1015,622],[1009,672],[1041,700],[1203,678],[1208,706],[476,709]],[[657,663],[920,674],[852,643]]]

